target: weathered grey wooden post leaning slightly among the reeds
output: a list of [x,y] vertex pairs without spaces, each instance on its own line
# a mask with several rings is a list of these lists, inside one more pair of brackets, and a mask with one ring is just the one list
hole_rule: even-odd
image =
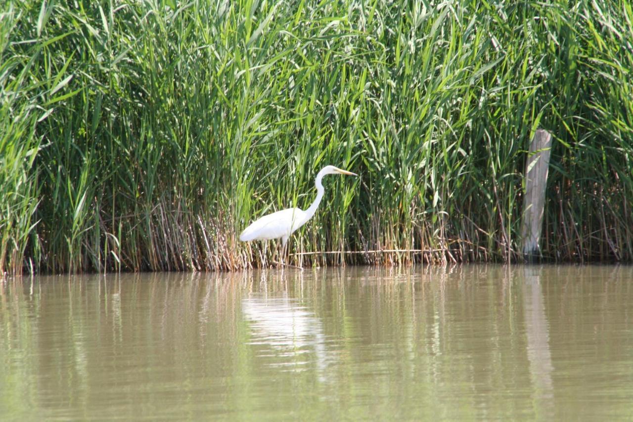
[[538,129],[532,138],[525,165],[525,197],[523,198],[522,248],[529,262],[541,256],[539,238],[545,207],[545,188],[548,181],[549,152],[552,136]]

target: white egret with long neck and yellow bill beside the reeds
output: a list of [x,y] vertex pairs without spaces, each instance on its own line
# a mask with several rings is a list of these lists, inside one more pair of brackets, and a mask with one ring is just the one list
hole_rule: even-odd
[[316,175],[316,199],[310,205],[310,208],[303,211],[300,208],[287,208],[285,210],[273,212],[272,214],[264,215],[259,219],[253,221],[250,226],[246,227],[244,231],[239,235],[239,240],[271,240],[281,239],[282,250],[285,248],[285,244],[288,238],[299,227],[308,222],[313,215],[315,215],[316,208],[318,207],[321,199],[323,198],[323,185],[321,179],[326,174],[348,174],[349,176],[358,176],[356,173],[341,170],[334,165],[327,165],[321,169]]

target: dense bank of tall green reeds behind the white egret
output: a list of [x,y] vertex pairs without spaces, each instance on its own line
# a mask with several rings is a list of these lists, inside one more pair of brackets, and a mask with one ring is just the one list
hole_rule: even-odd
[[0,271],[258,267],[274,248],[237,235],[327,164],[360,176],[325,182],[290,264],[521,262],[539,127],[544,259],[630,262],[632,22],[609,0],[4,1]]

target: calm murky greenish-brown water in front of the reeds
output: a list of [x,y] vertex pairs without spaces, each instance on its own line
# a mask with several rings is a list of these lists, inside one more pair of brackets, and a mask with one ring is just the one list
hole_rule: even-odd
[[633,267],[0,282],[6,419],[633,418]]

